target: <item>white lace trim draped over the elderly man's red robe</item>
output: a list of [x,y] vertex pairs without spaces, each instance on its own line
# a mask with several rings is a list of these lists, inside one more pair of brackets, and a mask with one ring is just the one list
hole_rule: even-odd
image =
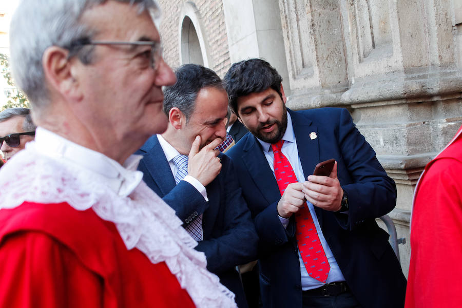
[[197,307],[236,307],[234,294],[207,271],[205,255],[194,249],[197,242],[175,211],[144,182],[119,197],[88,170],[43,156],[30,144],[0,169],[0,187],[0,208],[25,201],[91,207],[117,226],[128,249],[137,247],[152,263],[165,261]]

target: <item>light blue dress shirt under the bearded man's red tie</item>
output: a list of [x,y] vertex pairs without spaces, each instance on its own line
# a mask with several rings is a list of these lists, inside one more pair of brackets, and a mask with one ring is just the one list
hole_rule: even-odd
[[[295,133],[294,133],[294,128],[292,126],[291,115],[288,112],[287,112],[287,128],[285,130],[284,136],[282,136],[282,139],[284,140],[284,144],[282,145],[281,151],[284,154],[284,156],[288,159],[288,161],[291,163],[292,168],[294,169],[295,176],[297,177],[297,181],[298,182],[306,181],[303,175],[302,165],[298,157],[297,141],[295,139]],[[271,149],[271,143],[264,142],[258,138],[257,140],[262,145],[263,153],[274,175],[274,153],[273,153],[273,150]],[[325,256],[327,257],[329,261],[329,265],[331,266],[331,269],[329,271],[329,276],[328,276],[328,279],[326,280],[326,283],[330,283],[334,281],[345,281],[345,278],[343,277],[343,274],[340,271],[340,268],[338,267],[337,261],[335,260],[331,249],[329,248],[329,244],[326,242],[324,235],[322,234],[321,226],[319,225],[318,218],[316,217],[316,212],[315,212],[313,204],[311,204],[310,202],[306,202],[306,204],[308,208],[310,209],[311,216],[313,217],[313,222],[318,232],[319,240],[321,241],[322,247],[324,248]],[[279,219],[281,220],[281,223],[284,226],[284,228],[286,228],[289,223],[289,220],[283,217],[279,217]],[[324,285],[324,283],[322,283],[321,281],[316,280],[308,275],[308,272],[306,272],[305,265],[303,264],[303,260],[300,256],[300,252],[298,253],[298,259],[300,262],[302,290],[303,291],[311,290],[313,288],[317,288],[317,287]]]

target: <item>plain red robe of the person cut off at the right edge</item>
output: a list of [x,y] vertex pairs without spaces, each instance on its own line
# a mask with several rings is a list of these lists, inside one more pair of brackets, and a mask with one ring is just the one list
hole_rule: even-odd
[[406,308],[462,306],[462,134],[416,187],[411,249]]

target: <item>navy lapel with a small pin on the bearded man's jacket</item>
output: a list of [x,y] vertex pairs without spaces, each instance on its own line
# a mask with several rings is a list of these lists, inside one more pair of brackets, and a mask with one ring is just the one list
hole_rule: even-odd
[[[305,179],[313,174],[313,170],[319,163],[319,136],[318,128],[312,124],[312,121],[306,118],[300,112],[289,110],[294,127],[295,139],[297,141],[298,157],[303,169]],[[312,139],[311,133],[316,133],[316,138]],[[322,227],[322,210],[315,206],[316,216]]]

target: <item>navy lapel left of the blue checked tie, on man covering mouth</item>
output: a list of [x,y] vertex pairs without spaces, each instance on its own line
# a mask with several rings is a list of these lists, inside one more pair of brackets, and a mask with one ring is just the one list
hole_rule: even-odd
[[152,180],[156,182],[162,192],[161,197],[163,197],[175,187],[175,178],[171,173],[170,165],[168,164],[167,158],[165,157],[157,136],[152,136],[150,141],[152,147],[147,149],[143,160],[145,161],[149,175]]

